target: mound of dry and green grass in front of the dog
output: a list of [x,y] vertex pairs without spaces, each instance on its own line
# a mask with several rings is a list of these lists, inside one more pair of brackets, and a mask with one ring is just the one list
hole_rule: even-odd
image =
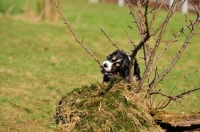
[[161,131],[145,100],[119,80],[67,93],[57,106],[55,118],[57,131]]

